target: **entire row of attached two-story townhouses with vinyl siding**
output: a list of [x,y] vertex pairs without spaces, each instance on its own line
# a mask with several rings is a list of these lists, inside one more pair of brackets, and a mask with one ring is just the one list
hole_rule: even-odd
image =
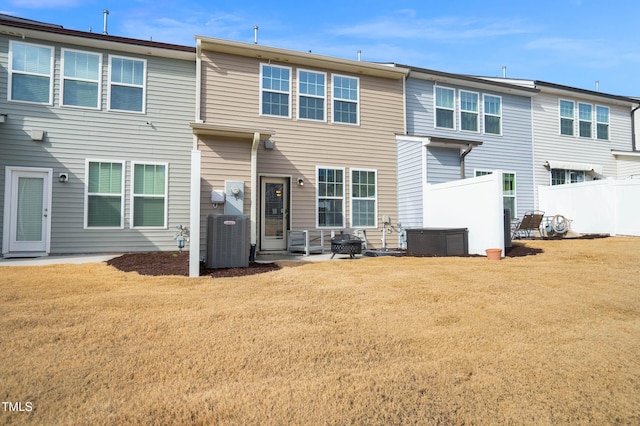
[[519,216],[538,185],[640,174],[637,106],[539,81],[0,15],[2,254],[172,250],[189,225],[194,271],[211,213],[249,215],[258,251],[285,250],[292,229],[364,229],[376,248],[382,222],[423,226],[425,185],[498,169]]

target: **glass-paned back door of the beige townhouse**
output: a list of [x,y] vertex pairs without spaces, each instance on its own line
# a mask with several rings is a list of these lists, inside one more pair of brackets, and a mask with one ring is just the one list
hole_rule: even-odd
[[261,250],[287,249],[288,180],[263,177],[261,185]]

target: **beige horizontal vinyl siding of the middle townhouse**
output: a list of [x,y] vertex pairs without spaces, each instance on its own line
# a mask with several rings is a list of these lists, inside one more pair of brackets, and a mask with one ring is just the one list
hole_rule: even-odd
[[[367,230],[371,246],[380,247],[380,219],[389,215],[397,222],[397,177],[395,134],[404,127],[403,83],[401,79],[385,79],[370,76],[360,78],[360,125],[331,123],[331,77],[329,69],[302,69],[327,73],[327,120],[315,122],[296,119],[295,64],[274,64],[291,67],[292,117],[276,118],[260,116],[260,61],[228,54],[205,52],[203,58],[202,114],[205,123],[235,125],[248,128],[272,129],[275,135],[274,150],[258,151],[258,174],[264,176],[291,177],[291,228],[316,227],[316,167],[327,166],[346,169],[346,225],[350,225],[350,170],[352,168],[376,169],[378,172],[378,222],[377,229]],[[348,75],[343,72],[336,74]],[[208,145],[208,144],[207,144]],[[214,143],[214,145],[216,145]],[[201,145],[202,146],[202,145]],[[246,142],[244,173],[250,189],[250,146]],[[218,188],[224,183],[223,171],[227,161],[237,161],[237,150],[222,144],[216,155],[209,155],[210,146],[203,148],[203,182],[211,182]],[[222,155],[220,155],[222,152]],[[238,164],[235,164],[238,165]],[[239,166],[239,165],[238,165]],[[295,184],[303,178],[305,185]],[[228,179],[228,178],[227,178]],[[207,190],[203,188],[203,194]],[[209,196],[203,195],[208,203]],[[210,203],[209,203],[210,204]],[[245,203],[245,208],[247,203]],[[206,206],[203,205],[203,209]],[[391,241],[391,239],[390,239]]]

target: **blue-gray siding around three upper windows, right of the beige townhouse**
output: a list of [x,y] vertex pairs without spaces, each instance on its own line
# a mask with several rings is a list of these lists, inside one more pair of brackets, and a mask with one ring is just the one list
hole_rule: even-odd
[[[456,93],[456,125],[459,113],[459,91],[478,93],[480,102],[484,94],[502,98],[502,135],[483,133],[482,104],[480,105],[480,131],[436,129],[434,123],[434,82],[408,78],[406,84],[407,131],[411,135],[437,136],[482,142],[465,158],[465,176],[475,176],[476,170],[504,170],[516,174],[517,216],[534,206],[533,137],[531,125],[531,97],[495,91],[479,90],[464,85],[447,84]],[[460,178],[458,149],[429,148],[427,182],[446,182]],[[455,157],[455,160],[454,160]],[[454,167],[455,166],[455,167]]]

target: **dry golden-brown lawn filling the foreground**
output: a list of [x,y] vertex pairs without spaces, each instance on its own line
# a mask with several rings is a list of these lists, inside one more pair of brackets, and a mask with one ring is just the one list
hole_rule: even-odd
[[640,424],[640,239],[526,244],[244,278],[1,267],[0,397],[32,410],[0,424]]

